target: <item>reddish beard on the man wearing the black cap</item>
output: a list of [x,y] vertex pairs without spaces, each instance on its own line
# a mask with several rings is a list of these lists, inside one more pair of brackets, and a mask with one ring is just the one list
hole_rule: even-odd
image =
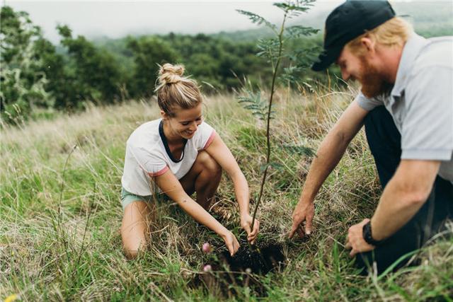
[[359,57],[362,63],[362,84],[361,91],[367,98],[374,98],[378,95],[388,95],[391,91],[391,83],[385,81],[376,67],[368,63],[365,57]]

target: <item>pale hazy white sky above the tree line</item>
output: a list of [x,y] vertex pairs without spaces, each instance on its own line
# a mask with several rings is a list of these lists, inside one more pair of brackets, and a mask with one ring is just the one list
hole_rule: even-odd
[[[124,37],[256,28],[236,9],[258,13],[270,21],[282,17],[280,9],[273,6],[275,1],[0,1],[16,11],[28,12],[33,23],[40,25],[52,42],[59,41],[57,23],[69,25],[74,35]],[[341,2],[316,1],[310,14],[326,15]]]

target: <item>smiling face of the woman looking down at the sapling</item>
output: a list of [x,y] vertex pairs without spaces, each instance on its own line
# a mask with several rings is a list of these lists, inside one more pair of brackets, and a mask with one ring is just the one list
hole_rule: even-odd
[[202,103],[190,109],[177,107],[173,109],[173,114],[174,117],[168,117],[165,113],[163,115],[172,137],[178,136],[183,139],[191,139],[195,135],[198,126],[203,122]]

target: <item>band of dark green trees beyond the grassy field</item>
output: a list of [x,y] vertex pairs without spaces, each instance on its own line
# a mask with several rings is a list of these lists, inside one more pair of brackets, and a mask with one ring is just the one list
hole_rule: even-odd
[[[87,102],[149,98],[158,64],[166,62],[185,64],[205,93],[231,91],[243,85],[245,78],[261,86],[271,80],[270,66],[256,56],[263,51],[256,41],[175,33],[90,41],[75,37],[69,26],[58,25],[60,45],[56,46],[24,11],[3,6],[0,22],[0,105],[1,118],[7,123],[26,120],[37,108],[71,112],[83,109]],[[302,38],[288,47],[312,50],[321,44],[321,37]],[[285,58],[283,66],[300,66],[298,60],[308,62],[313,58],[307,53],[318,52],[303,53],[304,57]],[[306,81],[316,75],[306,71],[298,76]]]

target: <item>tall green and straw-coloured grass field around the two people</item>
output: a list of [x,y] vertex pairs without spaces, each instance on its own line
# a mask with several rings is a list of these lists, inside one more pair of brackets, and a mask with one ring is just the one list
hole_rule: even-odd
[[[362,132],[326,180],[316,199],[316,231],[308,240],[287,240],[291,214],[311,158],[282,148],[316,149],[354,95],[277,93],[272,125],[273,158],[262,207],[258,245],[282,245],[282,272],[244,276],[253,286],[211,286],[193,280],[212,262],[201,246],[224,250],[222,240],[190,219],[172,202],[159,202],[151,226],[151,247],[137,260],[122,253],[120,178],[125,141],[158,117],[153,102],[90,108],[79,115],[1,129],[0,299],[23,301],[452,301],[453,240],[440,238],[422,250],[422,265],[382,276],[357,276],[345,234],[370,217],[380,194],[374,161]],[[226,141],[256,194],[265,161],[264,125],[233,95],[207,98],[205,117]],[[222,178],[212,209],[222,223],[241,233],[231,182]],[[214,273],[215,274],[215,273]],[[222,285],[222,284],[221,284]]]

